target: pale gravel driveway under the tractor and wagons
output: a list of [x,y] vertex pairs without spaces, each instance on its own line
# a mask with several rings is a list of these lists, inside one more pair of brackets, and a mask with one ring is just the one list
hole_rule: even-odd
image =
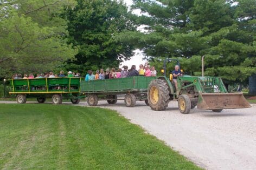
[[181,114],[175,101],[165,111],[152,111],[142,101],[133,108],[125,107],[123,101],[114,105],[100,101],[98,106],[117,110],[206,169],[256,169],[255,104],[221,113],[195,108],[190,114]]

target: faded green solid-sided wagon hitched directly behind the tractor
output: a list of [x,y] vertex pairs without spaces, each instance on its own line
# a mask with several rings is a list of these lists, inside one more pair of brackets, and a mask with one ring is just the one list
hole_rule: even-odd
[[[87,96],[89,106],[96,106],[99,100],[106,100],[108,104],[115,104],[117,100],[124,100],[127,107],[134,107],[136,100],[145,101],[148,105],[146,93],[150,81],[156,77],[126,77],[117,79],[104,79],[81,81],[80,93]],[[118,94],[125,94],[118,99]]]

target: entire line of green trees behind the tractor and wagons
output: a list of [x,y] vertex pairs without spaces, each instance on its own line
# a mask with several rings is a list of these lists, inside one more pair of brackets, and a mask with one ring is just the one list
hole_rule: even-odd
[[204,55],[206,75],[246,83],[256,72],[256,1],[133,0],[129,10],[116,0],[0,0],[0,37],[1,77],[117,67],[140,49],[157,70],[170,57],[199,76]]

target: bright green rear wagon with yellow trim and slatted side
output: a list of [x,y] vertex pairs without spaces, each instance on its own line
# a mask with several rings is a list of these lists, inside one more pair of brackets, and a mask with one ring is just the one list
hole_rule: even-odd
[[80,98],[84,98],[80,96],[80,81],[84,81],[84,78],[10,79],[9,93],[16,95],[19,104],[26,103],[27,98],[36,98],[39,103],[44,103],[47,97],[52,98],[53,104],[61,104],[62,99],[70,99],[73,104],[78,104]]

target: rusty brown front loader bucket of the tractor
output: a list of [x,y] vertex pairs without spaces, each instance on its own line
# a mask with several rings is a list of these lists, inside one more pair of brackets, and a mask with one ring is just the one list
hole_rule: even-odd
[[242,93],[200,93],[197,108],[216,110],[251,107]]

